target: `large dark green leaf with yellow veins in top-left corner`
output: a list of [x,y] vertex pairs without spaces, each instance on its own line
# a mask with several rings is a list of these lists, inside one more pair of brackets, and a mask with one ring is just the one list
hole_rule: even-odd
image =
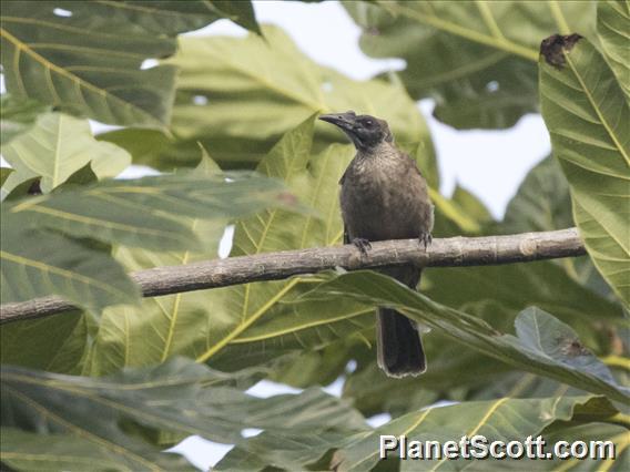
[[220,18],[257,30],[248,1],[4,1],[7,90],[103,123],[165,129],[176,69],[143,61],[172,55],[177,33]]

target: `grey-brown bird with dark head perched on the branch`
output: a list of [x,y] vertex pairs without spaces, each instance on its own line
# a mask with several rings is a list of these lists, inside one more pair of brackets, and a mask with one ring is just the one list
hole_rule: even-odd
[[[367,255],[372,242],[418,238],[426,250],[434,226],[427,183],[415,161],[394,144],[387,122],[354,111],[323,114],[319,120],[339,127],[356,148],[339,181],[344,243],[354,244],[362,255]],[[378,271],[411,289],[418,286],[421,273],[415,266]],[[414,320],[382,307],[376,326],[378,366],[388,377],[426,371],[425,351]]]

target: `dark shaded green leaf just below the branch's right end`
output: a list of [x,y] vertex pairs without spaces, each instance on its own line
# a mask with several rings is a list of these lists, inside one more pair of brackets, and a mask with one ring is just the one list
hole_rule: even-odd
[[610,330],[627,322],[619,304],[551,261],[427,270],[424,279],[427,297],[492,322],[511,322],[520,310],[536,305],[571,324],[585,343],[601,353],[609,349]]

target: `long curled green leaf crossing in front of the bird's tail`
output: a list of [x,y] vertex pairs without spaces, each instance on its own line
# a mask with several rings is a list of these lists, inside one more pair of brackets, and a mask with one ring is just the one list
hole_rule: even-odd
[[630,399],[630,389],[616,383],[606,366],[583,347],[568,325],[538,308],[528,308],[517,317],[515,337],[376,273],[322,277],[328,281],[303,295],[303,299],[314,301],[343,294],[358,301],[393,307],[444,337],[519,369],[619,401]]

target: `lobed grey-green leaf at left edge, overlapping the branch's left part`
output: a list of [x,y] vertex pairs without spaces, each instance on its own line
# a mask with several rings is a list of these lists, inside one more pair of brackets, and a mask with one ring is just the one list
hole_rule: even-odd
[[195,249],[199,242],[183,216],[223,220],[287,204],[277,181],[250,173],[227,176],[109,181],[4,203],[2,301],[57,294],[94,311],[136,301],[138,288],[94,239],[160,250]]

